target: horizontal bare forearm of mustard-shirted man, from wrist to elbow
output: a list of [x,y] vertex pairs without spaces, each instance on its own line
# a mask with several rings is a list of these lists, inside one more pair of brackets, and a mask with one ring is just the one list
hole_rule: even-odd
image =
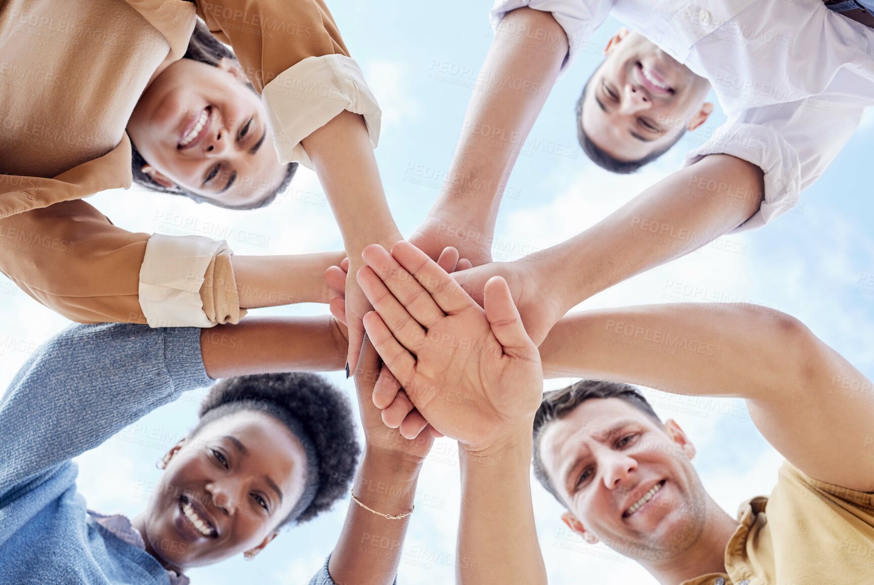
[[548,377],[752,398],[801,382],[803,341],[797,321],[766,307],[682,303],[567,315],[540,355]]

